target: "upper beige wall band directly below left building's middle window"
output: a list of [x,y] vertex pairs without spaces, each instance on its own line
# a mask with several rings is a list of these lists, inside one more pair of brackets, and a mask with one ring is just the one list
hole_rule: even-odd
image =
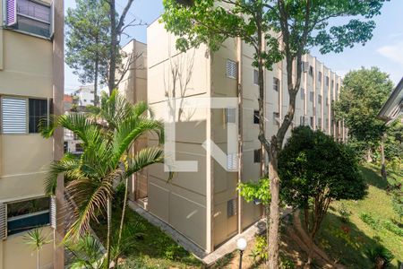
[[47,169],[53,160],[52,140],[40,134],[2,134],[1,174],[14,175]]

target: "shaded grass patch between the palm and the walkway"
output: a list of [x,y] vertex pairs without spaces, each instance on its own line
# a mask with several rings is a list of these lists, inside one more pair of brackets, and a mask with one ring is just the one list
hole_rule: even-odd
[[[120,217],[116,212],[113,230],[117,230]],[[138,235],[129,239],[133,244],[124,251],[119,268],[201,268],[201,262],[196,257],[129,207],[126,210],[126,223],[130,229],[137,230]],[[93,224],[92,227],[105,245],[105,223]]]

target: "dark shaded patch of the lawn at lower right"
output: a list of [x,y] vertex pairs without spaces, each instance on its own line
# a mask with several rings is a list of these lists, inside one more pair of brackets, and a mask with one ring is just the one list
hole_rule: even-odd
[[[328,212],[317,234],[316,244],[347,268],[373,268],[365,252],[368,248],[382,245],[382,239],[370,238],[356,224],[343,222],[339,216]],[[389,268],[398,267],[390,265]]]

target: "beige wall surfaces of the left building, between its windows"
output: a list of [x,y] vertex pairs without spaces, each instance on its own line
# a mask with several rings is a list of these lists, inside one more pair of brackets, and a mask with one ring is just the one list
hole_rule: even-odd
[[[46,1],[50,3],[51,1]],[[0,96],[50,99],[53,95],[53,47],[47,39],[3,29],[0,0]],[[53,160],[53,142],[40,134],[0,133],[0,203],[44,195],[47,164]],[[52,230],[44,228],[44,234]],[[36,268],[32,255],[19,233],[0,241],[0,269]],[[41,252],[41,268],[53,264],[53,244]]]

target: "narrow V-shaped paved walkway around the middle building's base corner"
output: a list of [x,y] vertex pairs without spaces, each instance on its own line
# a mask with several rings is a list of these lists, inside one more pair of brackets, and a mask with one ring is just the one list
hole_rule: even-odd
[[261,234],[266,230],[265,219],[254,223],[251,227],[244,230],[243,233],[236,235],[232,239],[229,239],[226,243],[224,243],[221,247],[217,248],[215,251],[207,254],[201,247],[194,244],[191,240],[184,237],[183,234],[167,225],[166,222],[159,220],[156,216],[151,213],[145,211],[138,204],[129,201],[129,207],[132,208],[133,211],[140,214],[144,219],[149,221],[151,224],[158,226],[161,230],[163,230],[169,237],[174,239],[180,246],[184,247],[190,253],[193,253],[194,256],[199,258],[204,265],[209,266],[214,264],[221,257],[226,256],[228,253],[236,250],[236,240],[244,237],[244,239],[250,241],[254,238],[256,234]]

